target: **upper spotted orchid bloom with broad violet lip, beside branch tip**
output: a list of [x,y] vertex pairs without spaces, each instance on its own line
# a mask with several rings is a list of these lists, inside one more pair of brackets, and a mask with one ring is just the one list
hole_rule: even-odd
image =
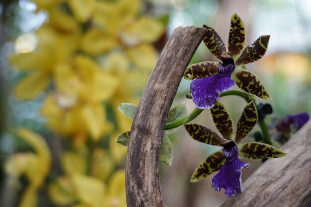
[[252,46],[244,48],[246,33],[244,24],[235,13],[231,17],[228,51],[218,33],[207,25],[203,41],[211,53],[222,62],[201,62],[187,67],[184,78],[193,80],[190,92],[194,104],[200,109],[213,107],[221,92],[235,84],[244,92],[262,99],[269,99],[259,78],[240,67],[261,59],[268,48],[269,35],[260,36]]

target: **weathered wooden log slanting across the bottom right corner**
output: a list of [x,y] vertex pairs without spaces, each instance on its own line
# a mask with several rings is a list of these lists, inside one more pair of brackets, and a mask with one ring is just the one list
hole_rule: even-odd
[[311,121],[244,183],[241,196],[221,207],[309,207],[311,205]]

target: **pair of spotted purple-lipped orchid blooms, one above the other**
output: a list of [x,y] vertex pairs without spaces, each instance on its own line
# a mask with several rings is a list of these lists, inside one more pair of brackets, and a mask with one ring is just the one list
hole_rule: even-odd
[[[243,189],[241,169],[248,168],[249,163],[242,162],[238,157],[248,159],[262,159],[282,157],[281,150],[268,143],[246,142],[240,143],[255,126],[258,120],[257,106],[251,94],[261,99],[269,99],[267,89],[259,81],[259,78],[246,70],[244,65],[255,62],[263,57],[267,51],[269,35],[260,36],[252,46],[244,50],[246,33],[240,17],[235,13],[231,18],[229,32],[228,51],[217,32],[207,26],[204,43],[211,53],[222,62],[201,62],[190,65],[184,74],[186,79],[191,79],[190,92],[194,104],[200,109],[210,109],[214,123],[223,135],[220,138],[215,132],[195,124],[185,125],[189,135],[197,141],[207,144],[221,145],[222,151],[210,154],[195,170],[191,181],[196,182],[218,171],[212,181],[212,188],[220,192],[225,189],[225,194],[232,198],[239,196]],[[240,68],[239,68],[240,67]],[[218,102],[220,93],[237,85],[245,92],[246,101],[242,115],[237,123],[237,130],[233,141],[233,122],[225,107]],[[240,93],[243,93],[240,92]],[[267,136],[267,135],[265,135]],[[238,144],[236,146],[236,144]]]

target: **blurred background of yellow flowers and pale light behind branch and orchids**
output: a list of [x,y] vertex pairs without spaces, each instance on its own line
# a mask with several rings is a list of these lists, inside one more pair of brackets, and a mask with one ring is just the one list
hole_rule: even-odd
[[[247,66],[273,98],[267,122],[310,112],[310,11],[306,0],[0,0],[0,206],[126,206],[126,147],[114,140],[132,121],[118,107],[138,104],[178,26],[208,24],[226,43],[236,12],[248,45],[270,34],[265,57]],[[217,61],[201,44],[192,63],[208,60]],[[189,85],[182,80],[173,104],[190,112]],[[236,123],[243,100],[222,102]],[[194,122],[216,130],[208,110]],[[165,205],[220,206],[227,198],[212,190],[213,175],[189,182],[217,147],[183,128],[169,138],[173,162],[161,163]],[[243,180],[260,164],[252,161]]]

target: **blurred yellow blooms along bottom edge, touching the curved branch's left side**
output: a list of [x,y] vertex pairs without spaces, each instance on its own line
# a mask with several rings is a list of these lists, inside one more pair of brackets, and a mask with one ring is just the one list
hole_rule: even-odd
[[112,174],[107,182],[85,174],[59,177],[49,185],[49,196],[61,206],[126,207],[125,170]]

